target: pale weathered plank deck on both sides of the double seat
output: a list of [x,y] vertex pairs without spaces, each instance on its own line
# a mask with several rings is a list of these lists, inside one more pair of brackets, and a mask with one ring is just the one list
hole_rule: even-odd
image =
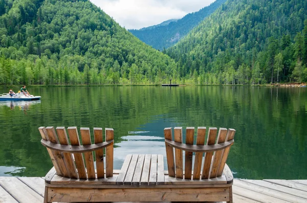
[[[44,190],[41,177],[0,177],[0,202],[42,203]],[[307,180],[235,179],[233,202],[307,202]]]

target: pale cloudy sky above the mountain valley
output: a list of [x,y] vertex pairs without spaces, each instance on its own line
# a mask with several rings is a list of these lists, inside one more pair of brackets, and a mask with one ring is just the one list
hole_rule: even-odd
[[182,18],[215,0],[90,0],[126,29],[140,29]]

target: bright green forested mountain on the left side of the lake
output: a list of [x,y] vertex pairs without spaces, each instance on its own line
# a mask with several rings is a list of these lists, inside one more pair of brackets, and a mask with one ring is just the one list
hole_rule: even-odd
[[0,0],[0,84],[152,84],[176,68],[89,1]]

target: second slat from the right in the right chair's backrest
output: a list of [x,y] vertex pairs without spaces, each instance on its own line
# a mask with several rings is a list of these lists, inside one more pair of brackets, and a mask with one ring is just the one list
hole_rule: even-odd
[[[220,128],[218,130],[218,136],[216,139],[216,144],[221,144],[226,141],[226,136],[227,136],[227,129],[226,128]],[[212,164],[212,169],[210,173],[210,178],[216,177],[217,176],[217,171],[218,168],[220,167],[221,161],[222,161],[222,155],[223,155],[223,150],[215,151],[213,155],[213,164]]]

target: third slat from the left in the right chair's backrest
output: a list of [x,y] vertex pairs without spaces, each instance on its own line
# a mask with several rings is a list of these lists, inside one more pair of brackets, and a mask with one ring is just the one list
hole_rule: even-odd
[[[186,144],[192,145],[194,142],[194,127],[187,127],[186,131]],[[184,178],[192,178],[192,162],[193,162],[193,152],[185,152],[185,166],[184,166]]]

